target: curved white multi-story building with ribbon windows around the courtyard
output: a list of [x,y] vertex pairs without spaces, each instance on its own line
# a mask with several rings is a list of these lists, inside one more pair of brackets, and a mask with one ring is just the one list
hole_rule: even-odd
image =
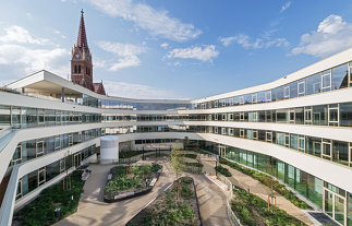
[[34,73],[0,91],[0,225],[66,171],[95,160],[101,135],[116,134],[132,150],[187,136],[276,177],[351,226],[351,85],[352,49],[271,83],[195,100],[111,97]]

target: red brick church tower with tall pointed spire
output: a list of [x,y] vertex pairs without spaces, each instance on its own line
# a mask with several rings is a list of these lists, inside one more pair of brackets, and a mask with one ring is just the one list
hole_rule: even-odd
[[77,44],[74,45],[71,55],[71,80],[75,84],[106,95],[102,81],[100,83],[93,83],[92,55],[87,43],[83,13],[82,10]]

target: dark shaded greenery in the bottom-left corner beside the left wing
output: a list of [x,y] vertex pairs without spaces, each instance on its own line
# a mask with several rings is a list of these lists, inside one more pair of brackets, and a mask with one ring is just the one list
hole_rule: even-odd
[[[82,170],[71,175],[71,190],[63,191],[62,181],[45,189],[40,195],[14,215],[14,222],[22,226],[46,226],[77,211],[84,181]],[[73,199],[72,199],[73,198]],[[60,209],[60,217],[54,217],[54,210]]]

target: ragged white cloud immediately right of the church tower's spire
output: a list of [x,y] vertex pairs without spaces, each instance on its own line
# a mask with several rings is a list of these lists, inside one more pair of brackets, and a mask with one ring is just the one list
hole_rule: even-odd
[[99,47],[108,52],[111,52],[118,57],[117,62],[109,66],[110,71],[118,71],[124,68],[137,67],[142,62],[138,55],[145,52],[146,48],[121,43],[100,41]]

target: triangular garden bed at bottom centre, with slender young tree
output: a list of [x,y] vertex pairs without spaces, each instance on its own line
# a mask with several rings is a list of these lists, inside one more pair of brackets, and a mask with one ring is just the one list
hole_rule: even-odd
[[179,181],[181,181],[179,198],[178,182],[174,181],[167,191],[128,222],[126,226],[202,226],[198,200],[193,179],[182,177]]

